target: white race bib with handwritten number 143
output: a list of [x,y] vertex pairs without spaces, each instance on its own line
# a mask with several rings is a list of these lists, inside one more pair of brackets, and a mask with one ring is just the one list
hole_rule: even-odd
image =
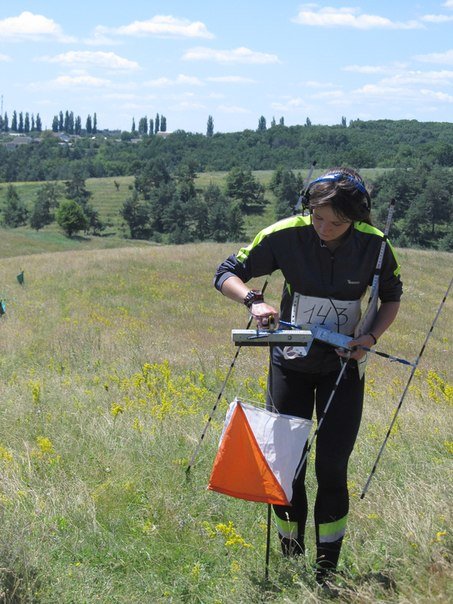
[[[317,298],[294,294],[291,309],[291,323],[310,329],[320,325],[325,329],[352,335],[360,320],[360,300],[335,300],[333,298]],[[307,349],[302,346],[285,346],[285,359],[295,359],[306,356]]]

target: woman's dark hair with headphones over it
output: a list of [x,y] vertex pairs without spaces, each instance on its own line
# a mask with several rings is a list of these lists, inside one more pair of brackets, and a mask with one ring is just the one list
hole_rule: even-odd
[[371,224],[371,201],[362,177],[352,168],[332,168],[313,180],[306,198],[310,211],[330,205],[337,216]]

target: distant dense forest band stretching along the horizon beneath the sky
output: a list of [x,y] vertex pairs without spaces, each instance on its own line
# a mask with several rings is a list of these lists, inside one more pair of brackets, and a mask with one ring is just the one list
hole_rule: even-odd
[[[63,116],[64,122],[65,116]],[[159,118],[162,128],[162,117]],[[59,123],[61,116],[59,116]],[[156,132],[157,116],[153,121]],[[150,120],[140,119],[144,133],[135,144],[131,133],[115,137],[82,137],[61,145],[51,133],[40,144],[10,150],[0,144],[0,182],[68,180],[75,172],[85,178],[135,176],[150,158],[159,157],[167,169],[193,164],[197,172],[228,171],[233,167],[274,170],[281,165],[302,170],[318,165],[361,168],[403,168],[427,161],[453,166],[453,124],[415,120],[352,121],[343,126],[285,126],[264,130],[193,134],[183,130],[166,137],[150,135]],[[60,127],[60,126],[59,126]],[[165,120],[166,127],[166,120]],[[138,132],[138,131],[137,131]]]

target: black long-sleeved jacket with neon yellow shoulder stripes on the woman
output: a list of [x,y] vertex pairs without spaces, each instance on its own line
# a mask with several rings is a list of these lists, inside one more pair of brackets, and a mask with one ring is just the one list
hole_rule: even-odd
[[[237,275],[247,282],[281,270],[285,279],[280,318],[291,321],[294,295],[329,300],[360,300],[371,285],[383,233],[369,224],[354,223],[341,245],[331,252],[318,237],[309,216],[292,216],[265,229],[253,242],[231,255],[217,269],[214,285],[220,290],[226,279]],[[388,242],[379,280],[381,302],[399,301],[402,283],[395,252]],[[352,335],[352,332],[351,334]],[[299,371],[327,372],[339,366],[339,357],[327,345],[316,343],[309,355],[288,361],[274,347],[274,363]]]

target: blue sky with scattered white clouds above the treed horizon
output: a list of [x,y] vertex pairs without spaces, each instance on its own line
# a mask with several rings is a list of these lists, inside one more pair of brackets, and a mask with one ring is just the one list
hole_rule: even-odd
[[452,121],[453,0],[0,0],[0,95],[47,127]]

